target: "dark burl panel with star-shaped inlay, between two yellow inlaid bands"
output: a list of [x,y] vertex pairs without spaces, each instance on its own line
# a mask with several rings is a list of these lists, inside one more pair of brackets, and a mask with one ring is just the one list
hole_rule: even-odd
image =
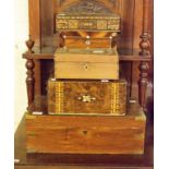
[[99,83],[67,83],[64,112],[110,113],[110,85]]

